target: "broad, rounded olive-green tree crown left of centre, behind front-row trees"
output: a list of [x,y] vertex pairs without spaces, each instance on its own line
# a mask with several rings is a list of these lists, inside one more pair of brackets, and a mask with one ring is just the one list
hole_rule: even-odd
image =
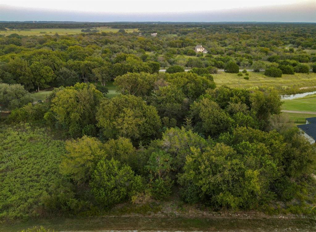
[[134,143],[146,142],[159,134],[161,120],[153,106],[140,97],[118,95],[104,99],[96,114],[106,138],[126,137]]

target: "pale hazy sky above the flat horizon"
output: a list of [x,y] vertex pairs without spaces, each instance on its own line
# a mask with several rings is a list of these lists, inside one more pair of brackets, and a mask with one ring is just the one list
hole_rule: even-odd
[[316,22],[316,0],[0,0],[0,21]]

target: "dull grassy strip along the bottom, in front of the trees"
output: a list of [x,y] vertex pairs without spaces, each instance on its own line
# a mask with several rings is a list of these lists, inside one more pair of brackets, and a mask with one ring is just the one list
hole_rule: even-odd
[[33,226],[44,226],[55,231],[315,231],[314,218],[238,216],[111,216],[89,218],[56,218],[47,220],[3,224],[0,232],[16,232]]

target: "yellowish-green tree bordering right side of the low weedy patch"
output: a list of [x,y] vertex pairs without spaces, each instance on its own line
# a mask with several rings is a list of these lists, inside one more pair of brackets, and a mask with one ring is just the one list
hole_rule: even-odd
[[97,162],[106,157],[102,143],[88,136],[66,141],[66,151],[60,164],[60,172],[76,183],[89,181]]

